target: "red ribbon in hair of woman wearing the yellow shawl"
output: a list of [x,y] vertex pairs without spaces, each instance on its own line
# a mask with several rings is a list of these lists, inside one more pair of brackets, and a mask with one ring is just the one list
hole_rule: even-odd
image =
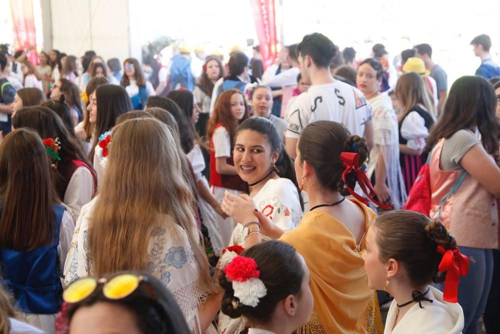
[[371,186],[371,182],[368,179],[368,177],[366,176],[366,173],[364,172],[364,170],[362,170],[360,168],[359,153],[342,152],[342,153],[340,153],[340,161],[342,161],[342,166],[345,167],[345,169],[342,173],[342,181],[344,182],[345,187],[347,188],[347,191],[352,196],[354,196],[356,199],[363,202],[364,204],[368,205],[368,200],[366,198],[361,197],[356,192],[354,192],[354,190],[352,190],[347,185],[347,182],[345,180],[345,177],[349,173],[355,172],[356,178],[357,178],[357,183],[359,183],[359,186],[361,187],[361,190],[365,193],[365,195],[368,196],[368,198],[373,203],[375,203],[376,205],[378,205],[382,209],[392,210],[392,205],[382,204],[382,203],[376,201],[375,199],[373,199],[373,197],[375,196],[375,191],[373,190],[373,187]]

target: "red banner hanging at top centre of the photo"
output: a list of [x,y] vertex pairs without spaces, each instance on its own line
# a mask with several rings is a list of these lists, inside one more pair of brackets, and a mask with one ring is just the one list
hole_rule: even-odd
[[250,0],[264,70],[276,60],[274,0]]

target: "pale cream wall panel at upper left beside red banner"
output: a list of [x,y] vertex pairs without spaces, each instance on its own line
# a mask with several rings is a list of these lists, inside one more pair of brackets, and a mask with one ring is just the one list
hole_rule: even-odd
[[94,50],[105,60],[129,57],[127,0],[42,0],[42,12],[47,3],[53,49],[77,57]]

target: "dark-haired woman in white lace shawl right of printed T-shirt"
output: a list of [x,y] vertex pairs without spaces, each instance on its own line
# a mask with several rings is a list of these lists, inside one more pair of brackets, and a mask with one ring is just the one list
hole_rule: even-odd
[[406,191],[399,164],[397,117],[388,95],[380,94],[383,68],[375,58],[361,62],[357,70],[357,88],[366,96],[373,108],[375,141],[366,171],[374,184],[375,193],[382,203],[391,203],[400,209]]

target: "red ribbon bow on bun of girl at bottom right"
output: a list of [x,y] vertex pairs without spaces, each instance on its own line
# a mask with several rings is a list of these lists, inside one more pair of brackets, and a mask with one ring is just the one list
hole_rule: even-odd
[[439,271],[446,272],[444,281],[443,300],[458,302],[457,292],[460,275],[465,276],[469,269],[468,256],[460,253],[458,248],[445,250],[442,246],[437,246],[437,251],[442,254]]

